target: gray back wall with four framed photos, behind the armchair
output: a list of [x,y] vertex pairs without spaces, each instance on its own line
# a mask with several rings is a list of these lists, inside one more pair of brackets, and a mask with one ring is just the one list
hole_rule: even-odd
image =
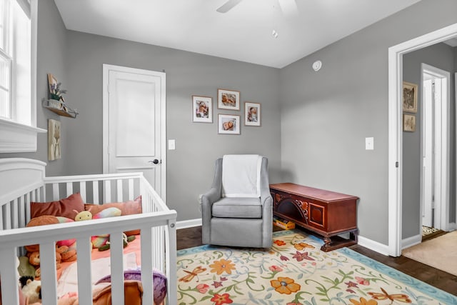
[[[278,69],[240,61],[139,44],[104,36],[67,33],[69,103],[79,110],[66,121],[69,174],[102,171],[102,64],[166,71],[166,133],[176,139],[167,153],[167,204],[178,220],[199,219],[199,194],[209,190],[216,158],[224,154],[262,154],[270,179],[280,181]],[[261,127],[241,126],[241,135],[217,134],[218,88],[241,91],[241,101],[261,103]],[[214,123],[192,123],[192,95],[212,96]]]

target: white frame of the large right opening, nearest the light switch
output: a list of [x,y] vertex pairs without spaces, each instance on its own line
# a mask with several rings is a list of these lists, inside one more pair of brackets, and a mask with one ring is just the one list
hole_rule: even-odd
[[401,255],[403,124],[403,54],[457,36],[457,24],[405,41],[388,49],[388,254]]

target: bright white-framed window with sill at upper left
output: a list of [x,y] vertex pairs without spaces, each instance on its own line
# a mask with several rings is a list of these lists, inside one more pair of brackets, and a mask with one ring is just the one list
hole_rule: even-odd
[[0,0],[0,152],[36,151],[36,0]]

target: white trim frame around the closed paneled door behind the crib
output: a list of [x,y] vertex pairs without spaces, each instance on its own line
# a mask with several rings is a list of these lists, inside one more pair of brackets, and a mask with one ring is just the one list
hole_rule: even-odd
[[109,71],[161,77],[161,198],[166,202],[166,74],[165,72],[103,64],[103,173],[109,173]]

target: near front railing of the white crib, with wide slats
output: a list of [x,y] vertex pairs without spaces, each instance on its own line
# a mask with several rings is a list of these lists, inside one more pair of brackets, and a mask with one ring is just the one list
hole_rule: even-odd
[[[28,244],[40,245],[41,293],[43,304],[57,304],[56,290],[56,241],[76,238],[78,252],[78,294],[79,304],[91,304],[91,236],[100,233],[110,234],[111,242],[111,294],[112,304],[124,304],[123,245],[122,232],[141,230],[141,281],[144,286],[144,304],[153,304],[154,259],[161,255],[157,251],[161,242],[156,242],[153,229],[163,228],[166,234],[164,251],[166,257],[166,276],[168,279],[167,302],[176,304],[176,212],[159,211],[138,215],[120,216],[93,221],[79,221],[69,224],[53,224],[31,228],[0,231],[0,274],[3,304],[19,304],[16,280],[16,249]],[[175,249],[175,251],[174,251]],[[168,261],[169,260],[169,261]]]

